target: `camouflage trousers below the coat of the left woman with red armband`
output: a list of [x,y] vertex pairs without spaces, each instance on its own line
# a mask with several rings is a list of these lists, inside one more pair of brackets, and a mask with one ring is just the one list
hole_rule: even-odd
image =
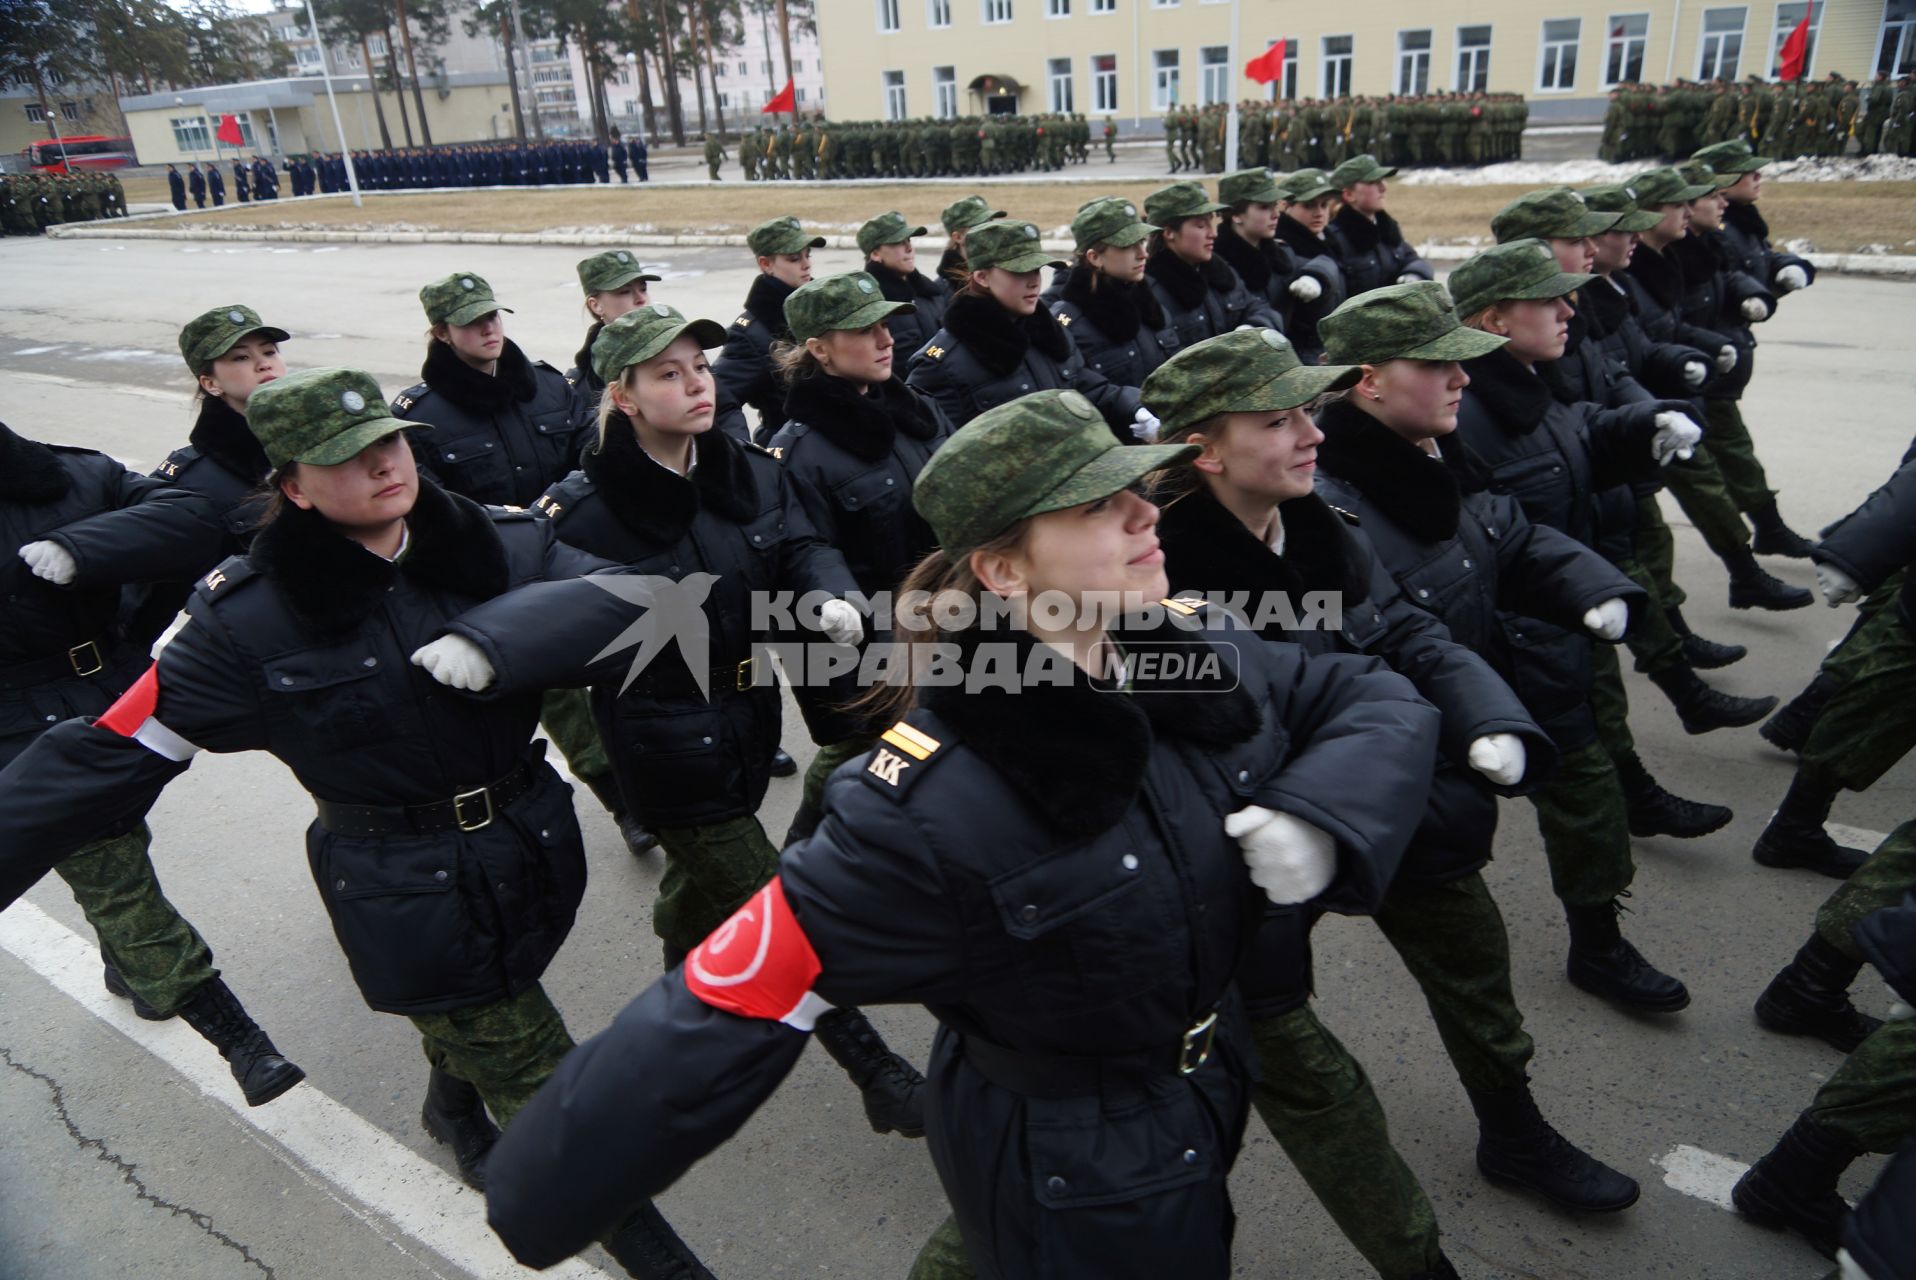
[[565,1019],[536,983],[515,996],[414,1014],[425,1060],[479,1090],[504,1129],[573,1048]]

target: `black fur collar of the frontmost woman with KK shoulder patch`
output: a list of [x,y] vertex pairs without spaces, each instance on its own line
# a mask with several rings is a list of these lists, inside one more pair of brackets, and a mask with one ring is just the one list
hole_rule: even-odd
[[[1127,630],[1132,640],[1148,632]],[[1190,642],[1188,632],[1176,632]],[[1017,669],[1027,671],[1038,642],[1025,630],[964,632],[956,638],[960,663],[979,655],[981,642],[1012,644]],[[1230,667],[1217,688],[1176,692],[1138,684],[1130,694],[1092,688],[1090,676],[1056,655],[1069,684],[1035,682],[1006,690],[992,682],[925,690],[925,707],[950,720],[968,747],[996,768],[1058,835],[1090,839],[1125,816],[1144,786],[1153,736],[1176,738],[1201,751],[1249,742],[1263,717],[1249,694],[1236,686]]]

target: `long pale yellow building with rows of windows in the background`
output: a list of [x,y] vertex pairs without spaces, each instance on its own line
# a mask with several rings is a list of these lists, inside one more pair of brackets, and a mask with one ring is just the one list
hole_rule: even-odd
[[[1242,6],[1242,8],[1238,8]],[[820,0],[839,119],[1083,111],[1268,98],[1243,63],[1288,42],[1282,94],[1523,94],[1533,123],[1594,121],[1623,80],[1774,75],[1803,0]],[[1232,10],[1238,54],[1232,57]],[[1916,0],[1814,6],[1809,71],[1916,71]]]

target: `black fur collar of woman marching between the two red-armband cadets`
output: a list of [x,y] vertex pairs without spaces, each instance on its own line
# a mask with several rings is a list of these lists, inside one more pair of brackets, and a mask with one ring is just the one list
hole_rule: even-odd
[[581,466],[619,523],[648,542],[676,542],[701,506],[740,525],[759,514],[759,483],[743,445],[713,429],[694,439],[692,450],[697,466],[688,479],[648,458],[632,427],[613,420],[604,445],[588,448]]

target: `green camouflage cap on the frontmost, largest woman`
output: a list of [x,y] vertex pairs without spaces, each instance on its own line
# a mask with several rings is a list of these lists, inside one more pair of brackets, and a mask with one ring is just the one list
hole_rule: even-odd
[[1198,456],[1196,445],[1121,445],[1077,391],[1038,391],[958,429],[912,481],[912,506],[958,561],[1027,515],[1109,498]]

